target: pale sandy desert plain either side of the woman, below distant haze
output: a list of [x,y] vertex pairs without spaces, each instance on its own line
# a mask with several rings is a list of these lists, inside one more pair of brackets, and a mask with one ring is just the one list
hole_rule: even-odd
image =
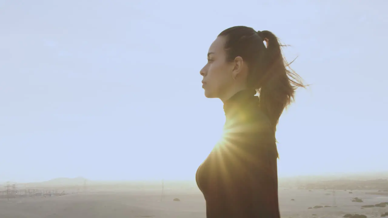
[[[335,201],[331,190],[279,189],[282,217],[342,217],[346,213],[380,217],[385,208],[364,208],[368,204],[388,202],[388,195],[365,194],[368,191],[336,191]],[[364,202],[352,202],[359,197]],[[173,201],[179,198],[180,201]],[[292,201],[291,199],[294,199]],[[334,206],[308,209],[314,206]],[[335,207],[336,206],[336,207]],[[204,218],[205,204],[198,192],[191,194],[166,191],[163,201],[160,192],[94,192],[68,194],[57,197],[23,197],[0,200],[0,218]]]

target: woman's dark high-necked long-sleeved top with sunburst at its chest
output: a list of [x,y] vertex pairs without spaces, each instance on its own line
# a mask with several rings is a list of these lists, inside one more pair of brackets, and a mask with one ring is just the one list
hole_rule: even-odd
[[280,218],[275,133],[255,93],[225,102],[224,136],[197,170],[207,218]]

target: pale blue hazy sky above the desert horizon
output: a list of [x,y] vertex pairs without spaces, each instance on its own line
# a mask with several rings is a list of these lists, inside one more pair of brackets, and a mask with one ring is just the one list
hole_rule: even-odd
[[199,70],[237,25],[292,45],[312,84],[280,119],[279,176],[387,170],[387,8],[0,0],[0,181],[194,179],[224,122]]

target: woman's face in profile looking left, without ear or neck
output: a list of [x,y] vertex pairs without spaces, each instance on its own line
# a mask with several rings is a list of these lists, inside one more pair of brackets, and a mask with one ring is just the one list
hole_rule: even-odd
[[221,98],[233,83],[233,63],[227,62],[224,49],[226,38],[218,36],[210,45],[208,63],[201,69],[203,86],[207,98]]

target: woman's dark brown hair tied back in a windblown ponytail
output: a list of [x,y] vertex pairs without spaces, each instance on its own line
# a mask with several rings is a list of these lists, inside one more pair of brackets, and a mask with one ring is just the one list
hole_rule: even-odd
[[276,131],[284,108],[294,100],[296,88],[305,87],[300,76],[283,58],[283,45],[270,31],[256,32],[246,26],[225,29],[218,36],[226,37],[227,61],[240,56],[248,64],[248,88],[254,88],[259,93],[260,109],[267,114]]

